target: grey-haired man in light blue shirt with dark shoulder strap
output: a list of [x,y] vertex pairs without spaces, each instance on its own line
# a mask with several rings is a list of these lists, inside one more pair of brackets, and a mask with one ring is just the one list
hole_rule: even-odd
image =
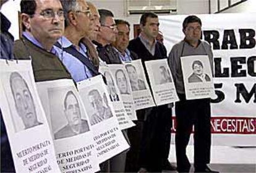
[[82,38],[90,34],[91,12],[85,0],[61,0],[65,16],[65,30],[55,44],[59,59],[66,66],[75,82],[98,75]]

